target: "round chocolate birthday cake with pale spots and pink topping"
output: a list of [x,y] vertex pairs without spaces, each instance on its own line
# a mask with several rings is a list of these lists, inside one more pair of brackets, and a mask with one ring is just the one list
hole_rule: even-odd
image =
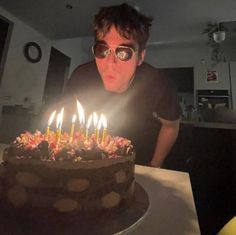
[[4,151],[1,204],[12,215],[39,220],[104,215],[132,204],[135,153],[130,140],[98,143],[61,133],[23,133]]

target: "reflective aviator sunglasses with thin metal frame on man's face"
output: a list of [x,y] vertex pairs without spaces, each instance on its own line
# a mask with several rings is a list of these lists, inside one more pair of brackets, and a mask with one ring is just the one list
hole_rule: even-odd
[[116,58],[120,61],[130,60],[135,53],[135,50],[129,46],[118,46],[115,49],[111,49],[106,44],[96,43],[92,47],[94,56],[99,59],[106,58],[111,53],[111,51],[114,52]]

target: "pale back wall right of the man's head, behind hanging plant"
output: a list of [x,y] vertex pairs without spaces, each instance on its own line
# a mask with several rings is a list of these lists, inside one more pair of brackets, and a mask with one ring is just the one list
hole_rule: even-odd
[[[226,40],[221,44],[227,61],[236,60],[235,40]],[[213,63],[210,56],[211,48],[207,41],[189,41],[147,46],[146,61],[158,68],[195,67],[203,59],[207,66]]]

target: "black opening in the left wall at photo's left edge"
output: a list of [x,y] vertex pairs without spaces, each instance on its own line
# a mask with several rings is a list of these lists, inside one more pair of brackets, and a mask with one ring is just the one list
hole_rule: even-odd
[[0,84],[3,69],[6,61],[6,54],[9,46],[13,23],[0,15]]

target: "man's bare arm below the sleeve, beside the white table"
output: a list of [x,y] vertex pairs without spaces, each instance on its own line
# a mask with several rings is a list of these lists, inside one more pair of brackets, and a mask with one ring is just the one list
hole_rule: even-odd
[[168,121],[159,118],[162,126],[157,137],[155,152],[150,163],[152,167],[161,167],[164,159],[171,150],[179,133],[179,119],[176,121]]

